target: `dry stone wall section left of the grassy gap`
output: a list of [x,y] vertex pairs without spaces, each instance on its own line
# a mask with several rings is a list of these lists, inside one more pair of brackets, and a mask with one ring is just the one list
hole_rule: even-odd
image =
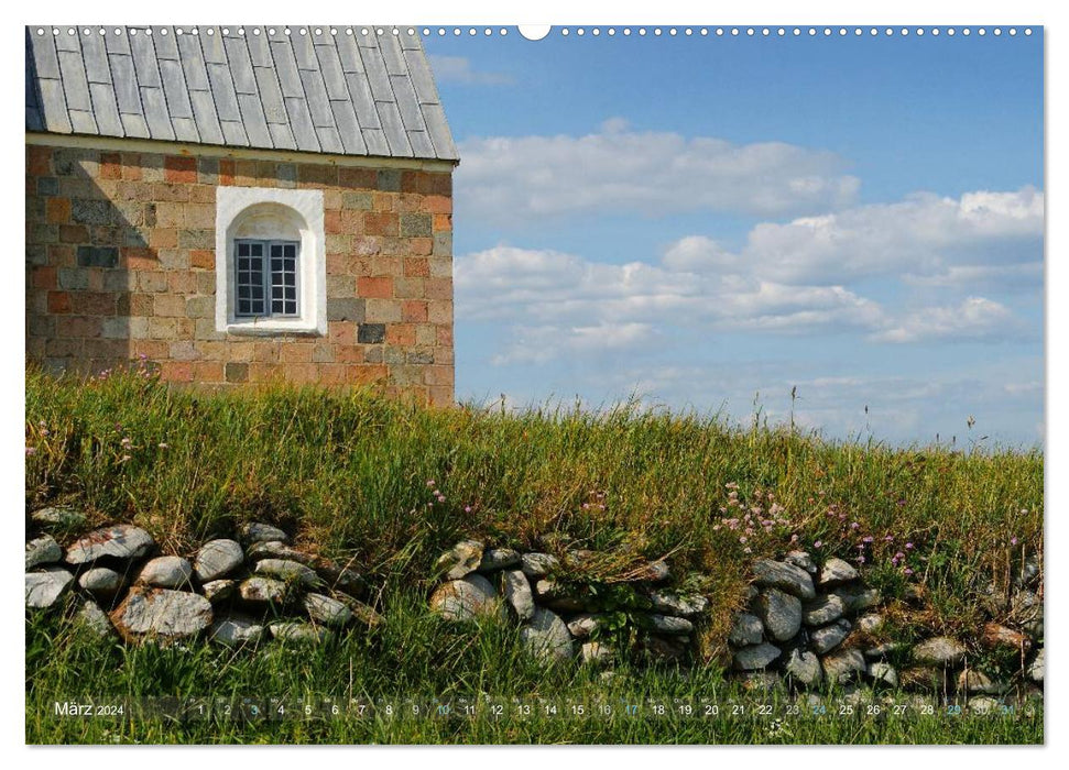
[[171,645],[204,635],[250,648],[272,638],[317,644],[346,627],[383,622],[360,601],[369,594],[360,573],[291,547],[276,527],[243,525],[187,559],[161,554],[149,532],[122,524],[62,548],[53,532],[77,530],[83,520],[65,508],[34,512],[26,609],[76,607],[91,634],[129,644]]

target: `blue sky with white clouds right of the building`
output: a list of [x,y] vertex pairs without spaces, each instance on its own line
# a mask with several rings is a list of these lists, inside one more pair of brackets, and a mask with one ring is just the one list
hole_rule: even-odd
[[425,38],[459,398],[1043,440],[1038,30],[510,32]]

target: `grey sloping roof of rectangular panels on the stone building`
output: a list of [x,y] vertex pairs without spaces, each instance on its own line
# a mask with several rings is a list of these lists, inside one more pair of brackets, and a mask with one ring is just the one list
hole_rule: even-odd
[[26,131],[458,161],[418,33],[392,31],[28,26]]

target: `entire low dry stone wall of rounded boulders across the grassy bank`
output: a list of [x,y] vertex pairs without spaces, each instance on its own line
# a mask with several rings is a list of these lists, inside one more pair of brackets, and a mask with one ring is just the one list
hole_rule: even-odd
[[[89,628],[118,631],[127,642],[204,634],[252,649],[271,637],[318,642],[347,626],[384,623],[361,602],[369,591],[357,571],[293,548],[275,527],[244,525],[232,539],[214,538],[185,558],[160,554],[149,534],[130,525],[74,537],[65,549],[53,537],[68,540],[80,526],[69,509],[31,516],[29,610],[75,595]],[[979,711],[995,707],[995,698],[1043,697],[1043,586],[1035,557],[1018,565],[1008,593],[985,592],[988,619],[953,635],[916,623],[896,628],[902,600],[885,600],[841,559],[818,564],[801,551],[782,561],[759,559],[726,648],[709,644],[717,597],[694,588],[700,575],[674,574],[662,560],[632,561],[608,580],[603,571],[597,576],[598,565],[612,559],[465,540],[434,565],[429,610],[471,632],[482,619],[515,624],[535,658],[598,666],[607,674],[624,661],[713,664],[751,689],[783,686],[799,695],[828,688],[905,690]],[[919,603],[919,596],[905,601]],[[993,667],[1000,659],[1002,668]]]

